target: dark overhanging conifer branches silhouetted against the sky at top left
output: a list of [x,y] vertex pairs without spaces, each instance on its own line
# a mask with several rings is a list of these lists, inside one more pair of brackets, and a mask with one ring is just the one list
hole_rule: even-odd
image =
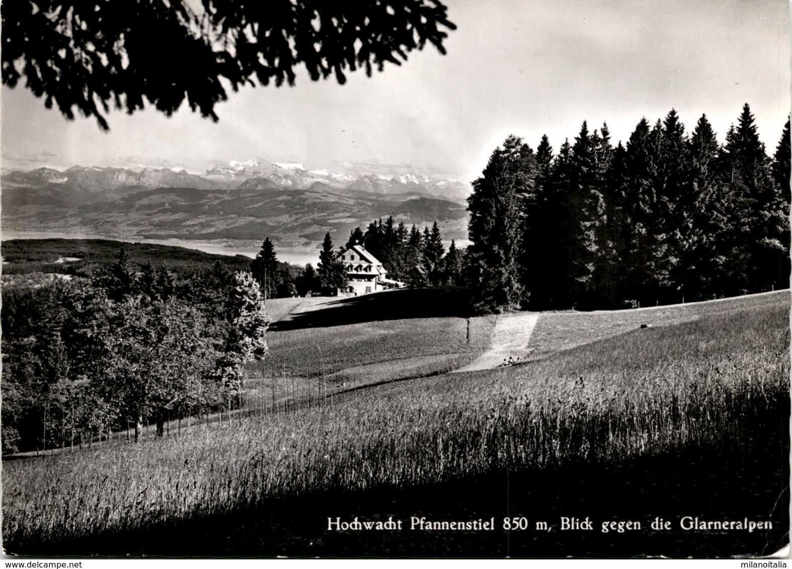
[[[456,26],[436,0],[6,0],[2,82],[22,78],[67,119],[93,116],[109,130],[110,105],[128,114],[144,100],[171,116],[188,101],[217,120],[227,85],[295,84],[386,62],[400,65],[428,42],[445,54]],[[193,5],[197,2],[192,2]]]

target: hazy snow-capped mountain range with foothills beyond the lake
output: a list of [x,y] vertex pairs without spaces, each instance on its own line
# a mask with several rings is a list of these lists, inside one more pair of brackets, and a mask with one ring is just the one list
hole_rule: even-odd
[[467,229],[464,184],[413,174],[389,179],[248,161],[204,175],[95,166],[4,169],[0,184],[7,229],[204,241],[271,237],[281,246],[312,248],[325,233],[341,245],[351,229],[389,215],[408,226],[437,221],[449,239],[466,238]]

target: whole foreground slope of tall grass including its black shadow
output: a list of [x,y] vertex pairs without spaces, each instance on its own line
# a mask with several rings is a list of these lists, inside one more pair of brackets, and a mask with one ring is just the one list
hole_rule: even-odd
[[[767,552],[788,527],[790,302],[788,293],[763,299],[716,310],[700,305],[695,320],[632,329],[526,365],[359,389],[332,405],[253,415],[241,425],[193,428],[137,446],[10,461],[2,472],[6,551]],[[603,327],[612,330],[609,322]],[[434,333],[440,328],[451,327]],[[303,333],[295,343],[302,338],[307,346],[312,340]],[[332,337],[341,346],[351,341]],[[371,355],[349,357],[366,362]],[[344,514],[733,515],[772,519],[780,529],[677,530],[629,541],[503,531],[328,533],[326,518]]]

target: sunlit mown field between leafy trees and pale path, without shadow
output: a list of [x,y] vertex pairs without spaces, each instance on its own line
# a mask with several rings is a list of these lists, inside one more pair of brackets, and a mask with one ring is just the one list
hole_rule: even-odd
[[455,370],[481,355],[492,327],[492,317],[445,317],[272,333],[270,356],[250,371],[246,403],[283,410],[367,385]]

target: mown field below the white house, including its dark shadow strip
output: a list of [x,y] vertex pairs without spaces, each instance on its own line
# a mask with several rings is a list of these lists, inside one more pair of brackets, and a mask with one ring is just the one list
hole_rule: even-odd
[[[268,301],[269,356],[249,370],[246,406],[284,412],[367,385],[458,369],[489,346],[495,318],[459,316],[459,306],[443,297],[436,290],[394,290]],[[330,325],[328,311],[332,322],[346,324]],[[432,312],[435,317],[418,316]]]

